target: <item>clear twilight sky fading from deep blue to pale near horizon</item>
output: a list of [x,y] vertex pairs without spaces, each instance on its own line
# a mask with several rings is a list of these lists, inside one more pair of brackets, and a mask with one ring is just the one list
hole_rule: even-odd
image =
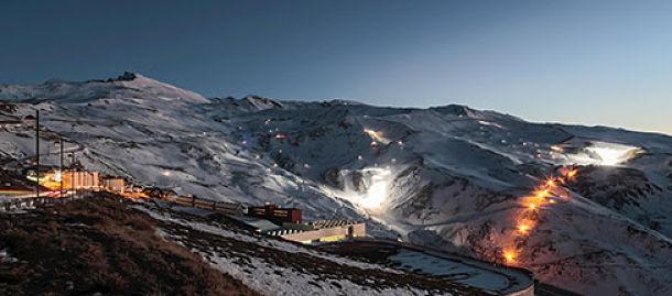
[[672,134],[672,1],[0,3],[0,84],[123,70],[208,97],[465,103]]

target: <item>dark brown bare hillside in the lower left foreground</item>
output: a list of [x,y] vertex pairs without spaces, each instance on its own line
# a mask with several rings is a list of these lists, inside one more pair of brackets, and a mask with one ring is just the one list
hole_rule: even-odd
[[258,295],[121,201],[0,213],[0,295]]

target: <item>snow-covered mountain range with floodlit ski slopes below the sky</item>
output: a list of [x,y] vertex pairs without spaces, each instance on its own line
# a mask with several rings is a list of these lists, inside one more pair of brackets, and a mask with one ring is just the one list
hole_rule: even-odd
[[[3,117],[41,110],[86,167],[139,184],[367,219],[376,235],[490,261],[514,246],[510,264],[587,295],[672,293],[671,136],[456,105],[206,99],[130,73],[0,86],[0,100],[18,103]],[[33,155],[31,136],[3,127],[0,158]],[[567,165],[576,180],[527,212],[521,200]],[[521,219],[534,221],[525,235]]]

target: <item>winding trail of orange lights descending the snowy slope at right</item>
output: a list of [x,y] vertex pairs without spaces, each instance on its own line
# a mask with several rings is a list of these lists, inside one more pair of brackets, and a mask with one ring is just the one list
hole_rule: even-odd
[[[560,169],[560,176],[549,177],[542,182],[531,195],[522,198],[522,205],[525,207],[519,213],[513,235],[516,239],[530,235],[531,231],[536,226],[538,212],[546,205],[555,204],[555,197],[559,196],[559,187],[568,182],[574,182],[578,171],[574,167],[563,167]],[[521,248],[517,245],[508,245],[501,249],[501,257],[508,265],[517,265],[518,256]]]

